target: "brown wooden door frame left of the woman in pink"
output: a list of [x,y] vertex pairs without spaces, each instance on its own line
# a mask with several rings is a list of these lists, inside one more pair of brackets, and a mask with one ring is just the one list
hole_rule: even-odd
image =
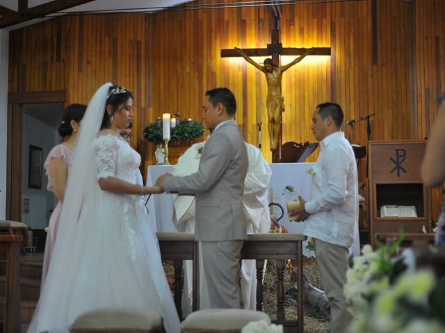
[[23,105],[31,103],[63,103],[66,90],[15,92],[8,94],[8,137],[6,167],[6,219],[22,221],[22,143]]

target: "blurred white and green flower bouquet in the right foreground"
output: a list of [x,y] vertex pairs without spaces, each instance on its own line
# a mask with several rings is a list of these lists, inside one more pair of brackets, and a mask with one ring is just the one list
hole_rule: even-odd
[[445,282],[431,271],[408,271],[403,257],[371,246],[355,257],[346,275],[344,293],[353,313],[350,332],[445,332]]

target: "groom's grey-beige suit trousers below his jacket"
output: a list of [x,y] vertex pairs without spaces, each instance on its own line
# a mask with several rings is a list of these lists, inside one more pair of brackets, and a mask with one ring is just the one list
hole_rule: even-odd
[[240,309],[243,241],[202,241],[202,266],[213,309]]

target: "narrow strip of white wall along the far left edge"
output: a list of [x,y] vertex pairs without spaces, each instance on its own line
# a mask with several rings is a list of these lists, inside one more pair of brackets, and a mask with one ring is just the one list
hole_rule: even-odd
[[0,219],[6,215],[6,139],[8,128],[9,32],[0,29]]

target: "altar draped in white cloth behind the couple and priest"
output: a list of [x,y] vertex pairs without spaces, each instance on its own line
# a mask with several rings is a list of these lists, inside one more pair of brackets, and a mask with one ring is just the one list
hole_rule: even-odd
[[[302,234],[305,222],[289,222],[286,212],[286,200],[298,195],[309,197],[311,175],[309,170],[314,163],[272,163],[269,189],[273,189],[273,202],[284,208],[284,215],[279,223],[284,225],[289,232]],[[153,186],[163,173],[171,172],[172,165],[152,165],[147,169],[147,186]],[[293,189],[293,191],[289,191]],[[149,198],[147,203],[150,220],[155,223],[159,232],[176,232],[173,223],[173,201],[171,194],[156,194]],[[275,207],[275,214],[280,214],[280,208]],[[280,217],[280,216],[277,216]]]

